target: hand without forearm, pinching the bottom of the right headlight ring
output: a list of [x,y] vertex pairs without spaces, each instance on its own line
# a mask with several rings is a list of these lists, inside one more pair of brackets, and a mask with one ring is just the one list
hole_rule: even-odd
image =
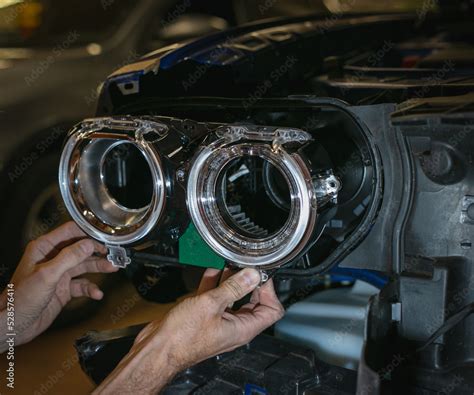
[[[219,277],[220,271],[208,269],[198,296],[176,306],[161,324],[152,323],[145,328],[138,341],[146,343],[157,330],[161,331],[170,342],[170,362],[176,369],[183,370],[247,344],[283,316],[284,309],[273,282],[268,281],[256,289],[260,283],[256,270],[242,270],[216,288]],[[230,310],[234,302],[252,291],[250,303],[237,311]]]

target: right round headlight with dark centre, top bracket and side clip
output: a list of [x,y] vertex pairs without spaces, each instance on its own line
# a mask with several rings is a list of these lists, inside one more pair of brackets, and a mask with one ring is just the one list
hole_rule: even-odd
[[230,125],[206,142],[190,167],[186,198],[207,244],[236,266],[262,270],[304,254],[324,228],[319,212],[341,188],[329,167],[305,155],[311,135]]

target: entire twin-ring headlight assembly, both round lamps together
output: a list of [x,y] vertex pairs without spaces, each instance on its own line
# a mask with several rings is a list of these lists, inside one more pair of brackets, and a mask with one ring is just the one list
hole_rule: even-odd
[[59,183],[73,220],[115,266],[130,263],[126,248],[175,245],[190,218],[228,263],[262,270],[314,245],[341,188],[303,130],[143,116],[77,125]]

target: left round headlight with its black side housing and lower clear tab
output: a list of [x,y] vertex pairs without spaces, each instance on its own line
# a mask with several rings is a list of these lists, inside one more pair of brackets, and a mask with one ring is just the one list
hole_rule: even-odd
[[81,122],[69,134],[59,184],[73,220],[125,267],[122,246],[175,239],[186,228],[184,190],[174,183],[183,136],[153,118]]

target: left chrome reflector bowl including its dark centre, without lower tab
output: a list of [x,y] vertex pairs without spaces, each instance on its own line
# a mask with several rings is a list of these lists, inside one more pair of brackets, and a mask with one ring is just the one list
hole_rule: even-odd
[[73,220],[108,245],[145,237],[165,209],[164,174],[153,142],[166,126],[142,120],[82,122],[63,149],[59,184]]

